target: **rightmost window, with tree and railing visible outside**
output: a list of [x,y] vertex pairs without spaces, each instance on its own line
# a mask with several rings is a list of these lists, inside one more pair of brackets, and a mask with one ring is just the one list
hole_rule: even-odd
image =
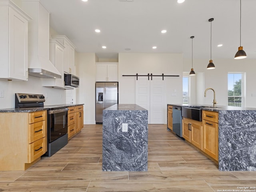
[[243,73],[228,73],[228,106],[243,106]]

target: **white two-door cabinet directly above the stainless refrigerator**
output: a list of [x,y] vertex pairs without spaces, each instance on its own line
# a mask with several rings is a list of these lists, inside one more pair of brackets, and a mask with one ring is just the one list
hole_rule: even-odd
[[96,62],[96,82],[118,82],[118,62]]

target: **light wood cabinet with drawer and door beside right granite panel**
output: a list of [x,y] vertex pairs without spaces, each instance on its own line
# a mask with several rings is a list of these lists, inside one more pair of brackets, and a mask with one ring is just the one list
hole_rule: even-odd
[[218,161],[218,112],[204,111],[203,151]]

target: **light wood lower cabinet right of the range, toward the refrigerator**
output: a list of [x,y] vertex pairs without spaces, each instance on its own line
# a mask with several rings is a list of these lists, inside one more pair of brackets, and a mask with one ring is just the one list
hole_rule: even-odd
[[70,139],[84,127],[84,106],[79,105],[68,109],[68,139]]

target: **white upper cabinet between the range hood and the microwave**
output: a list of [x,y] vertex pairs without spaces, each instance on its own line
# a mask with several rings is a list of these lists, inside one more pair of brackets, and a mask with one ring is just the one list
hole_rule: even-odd
[[60,72],[61,78],[42,78],[42,86],[64,89],[64,46],[57,39],[50,39],[49,59]]

